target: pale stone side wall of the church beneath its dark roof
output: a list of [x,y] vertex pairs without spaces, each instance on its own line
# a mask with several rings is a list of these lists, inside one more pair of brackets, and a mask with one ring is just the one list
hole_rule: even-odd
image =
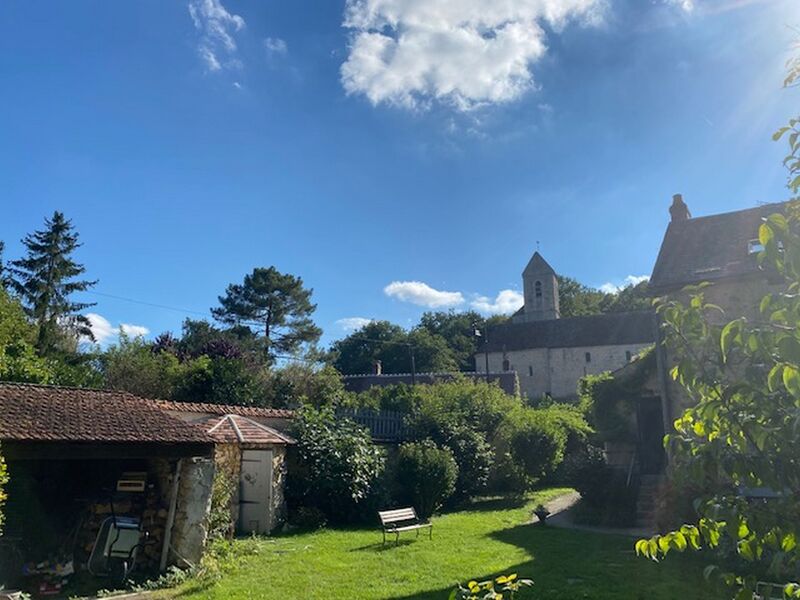
[[[615,371],[628,363],[628,353],[636,356],[652,344],[618,346],[581,346],[576,348],[532,348],[511,352],[490,352],[489,371],[503,371],[508,360],[509,370],[516,371],[523,396],[534,400],[543,394],[554,398],[571,398],[576,394],[578,380],[584,375]],[[586,353],[590,354],[589,362]],[[484,354],[475,356],[476,370],[486,371]]]

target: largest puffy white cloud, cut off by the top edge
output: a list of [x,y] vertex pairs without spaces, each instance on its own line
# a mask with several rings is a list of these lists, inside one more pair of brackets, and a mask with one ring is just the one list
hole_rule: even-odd
[[542,24],[597,24],[605,0],[347,0],[341,81],[374,104],[458,110],[508,102],[535,86]]

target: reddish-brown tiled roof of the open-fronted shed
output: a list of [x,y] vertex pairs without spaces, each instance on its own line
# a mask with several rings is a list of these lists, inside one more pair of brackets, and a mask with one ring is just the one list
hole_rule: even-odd
[[127,392],[0,383],[0,440],[213,443],[201,428]]

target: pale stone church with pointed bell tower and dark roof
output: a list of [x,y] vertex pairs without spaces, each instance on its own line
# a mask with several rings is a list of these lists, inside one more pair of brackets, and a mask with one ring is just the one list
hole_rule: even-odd
[[475,370],[516,371],[520,391],[575,397],[584,375],[615,371],[653,345],[649,311],[561,318],[556,272],[539,252],[522,272],[524,304],[507,323],[484,332]]

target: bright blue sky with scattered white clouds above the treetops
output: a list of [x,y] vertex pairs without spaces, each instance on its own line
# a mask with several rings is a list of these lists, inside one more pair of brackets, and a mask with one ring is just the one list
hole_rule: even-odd
[[[0,239],[53,210],[98,327],[150,335],[275,265],[345,319],[511,310],[650,273],[695,215],[785,199],[782,0],[0,4]],[[393,284],[393,285],[392,285]]]

